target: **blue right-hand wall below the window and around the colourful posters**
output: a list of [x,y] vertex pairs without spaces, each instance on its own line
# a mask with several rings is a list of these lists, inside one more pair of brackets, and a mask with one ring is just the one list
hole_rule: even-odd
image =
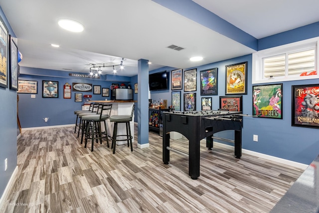
[[[243,95],[243,114],[252,115],[253,94],[251,83],[251,54],[225,61],[206,64],[199,67],[193,67],[197,68],[196,109],[201,109],[200,86],[198,84],[200,79],[200,70],[210,69],[214,67],[218,68],[218,96],[202,96],[212,97],[212,109],[217,110],[219,108],[219,96],[225,95],[225,66],[245,61],[248,61],[248,85],[247,94]],[[157,71],[162,71],[162,69],[159,69]],[[315,137],[315,135],[318,133],[318,130],[291,126],[291,86],[315,83],[318,83],[318,79],[283,82],[283,119],[244,117],[242,129],[242,148],[303,164],[310,164],[319,154],[319,137]],[[183,90],[180,91],[182,102],[184,92]],[[168,105],[170,105],[170,87],[169,90],[151,92],[151,98],[155,100],[158,100],[159,98],[167,98],[167,103]],[[217,137],[234,139],[233,131],[224,131],[215,135]],[[253,135],[258,135],[258,142],[253,141]]]

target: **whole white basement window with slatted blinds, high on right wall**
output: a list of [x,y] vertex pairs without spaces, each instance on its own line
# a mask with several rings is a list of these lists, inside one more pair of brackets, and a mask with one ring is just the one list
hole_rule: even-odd
[[253,53],[252,83],[319,78],[319,37]]

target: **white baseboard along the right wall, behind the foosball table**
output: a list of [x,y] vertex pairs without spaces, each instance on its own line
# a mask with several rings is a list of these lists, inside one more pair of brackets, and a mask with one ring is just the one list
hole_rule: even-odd
[[[233,146],[222,144],[222,143],[218,143],[218,142],[215,142],[215,141],[213,143],[213,146],[222,147],[222,148],[231,149],[231,150],[234,149]],[[271,156],[271,155],[265,155],[265,154],[262,154],[262,153],[259,153],[259,152],[254,152],[254,151],[245,150],[245,149],[242,149],[242,153],[248,154],[248,155],[252,155],[252,156],[255,156],[255,157],[258,157],[258,158],[267,159],[267,160],[270,160],[270,161],[275,161],[277,163],[286,164],[288,166],[297,167],[299,169],[304,169],[304,170],[307,169],[307,167],[309,166],[307,164],[301,164],[301,163],[298,163],[298,162],[295,162],[295,161],[289,161],[289,160],[286,160],[286,159],[283,159],[283,158],[277,158],[277,157],[274,157],[274,156]]]

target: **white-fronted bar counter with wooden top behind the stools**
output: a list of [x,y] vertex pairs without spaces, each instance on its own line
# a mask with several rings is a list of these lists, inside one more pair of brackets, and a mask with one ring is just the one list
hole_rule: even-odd
[[[131,115],[133,104],[137,101],[134,100],[97,100],[97,101],[89,101],[93,103],[105,103],[112,104],[111,115]],[[113,136],[113,127],[114,123],[110,122],[110,120],[106,120],[107,132],[109,136]],[[134,143],[134,114],[133,119],[130,122],[131,132],[132,132],[132,143]],[[104,131],[103,125],[101,125],[102,131]],[[126,135],[126,127],[125,124],[118,124],[118,135]],[[118,139],[123,139],[125,137],[119,136]],[[127,144],[127,141],[117,141],[117,145]]]

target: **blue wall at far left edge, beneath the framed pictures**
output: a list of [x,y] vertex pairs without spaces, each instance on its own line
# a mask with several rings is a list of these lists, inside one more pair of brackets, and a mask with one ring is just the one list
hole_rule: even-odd
[[[2,9],[0,9],[0,16],[5,25],[9,29],[9,34],[15,37],[15,34],[10,27]],[[7,59],[7,63],[8,63]],[[7,75],[8,78],[8,75]],[[16,91],[9,90],[9,88],[0,87],[0,196],[10,180],[10,177],[16,167]],[[4,171],[4,160],[7,158],[8,168]]]

